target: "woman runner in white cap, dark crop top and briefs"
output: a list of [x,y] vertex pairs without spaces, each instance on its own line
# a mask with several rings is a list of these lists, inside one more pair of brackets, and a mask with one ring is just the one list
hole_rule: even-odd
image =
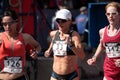
[[76,71],[77,59],[84,59],[84,51],[79,34],[71,30],[72,15],[67,9],[56,13],[58,30],[50,33],[52,42],[45,56],[49,57],[52,49],[54,53],[53,72],[50,80],[79,80]]

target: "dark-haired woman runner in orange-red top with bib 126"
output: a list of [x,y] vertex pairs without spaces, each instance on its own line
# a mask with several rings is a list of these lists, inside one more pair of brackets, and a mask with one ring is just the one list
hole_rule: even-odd
[[13,10],[6,10],[2,15],[4,32],[0,33],[0,79],[26,80],[25,46],[31,45],[35,50],[31,57],[36,58],[41,51],[40,44],[29,34],[18,33],[18,16]]

